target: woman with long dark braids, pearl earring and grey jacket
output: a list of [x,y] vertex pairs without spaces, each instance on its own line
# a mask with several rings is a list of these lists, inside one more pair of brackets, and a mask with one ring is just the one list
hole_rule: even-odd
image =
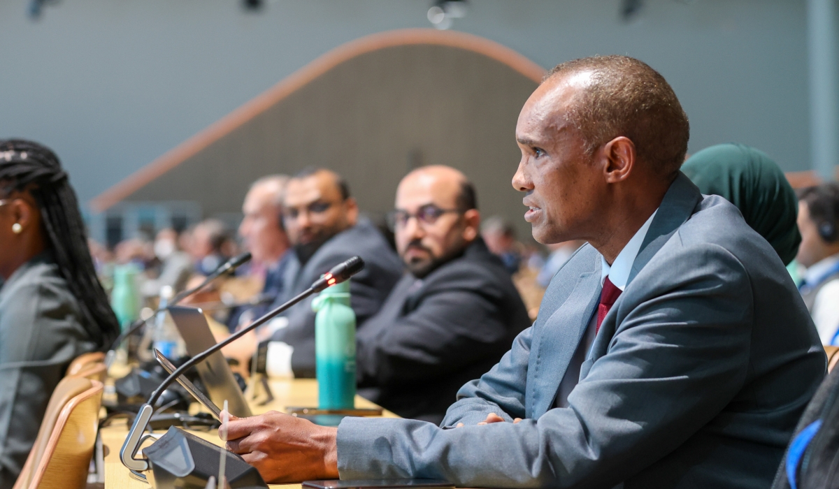
[[0,489],[12,487],[53,389],[118,334],[76,193],[55,153],[0,140]]

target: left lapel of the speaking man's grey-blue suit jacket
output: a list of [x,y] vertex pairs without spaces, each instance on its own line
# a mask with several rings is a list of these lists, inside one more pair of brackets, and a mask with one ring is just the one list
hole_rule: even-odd
[[554,402],[565,370],[600,301],[600,255],[592,272],[582,273],[568,299],[545,320],[531,345],[525,412],[538,419]]

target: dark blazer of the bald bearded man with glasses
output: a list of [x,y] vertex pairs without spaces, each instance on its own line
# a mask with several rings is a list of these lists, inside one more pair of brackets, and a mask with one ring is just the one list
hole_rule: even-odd
[[359,393],[403,418],[439,424],[457,390],[529,325],[510,273],[479,237],[422,280],[406,273],[358,329]]

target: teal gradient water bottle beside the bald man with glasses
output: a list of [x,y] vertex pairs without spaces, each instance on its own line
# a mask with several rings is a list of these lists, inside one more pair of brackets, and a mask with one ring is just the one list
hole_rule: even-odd
[[324,289],[312,301],[315,369],[321,409],[352,409],[356,397],[356,313],[350,281]]

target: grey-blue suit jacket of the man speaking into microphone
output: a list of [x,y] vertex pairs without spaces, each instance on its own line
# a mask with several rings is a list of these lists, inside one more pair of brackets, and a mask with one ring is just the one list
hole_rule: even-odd
[[[600,255],[582,247],[534,325],[458,393],[440,429],[344,419],[342,478],[487,487],[769,487],[824,376],[815,326],[777,253],[683,174],[602,323],[567,408],[555,396],[595,313]],[[488,413],[519,424],[477,426]]]

